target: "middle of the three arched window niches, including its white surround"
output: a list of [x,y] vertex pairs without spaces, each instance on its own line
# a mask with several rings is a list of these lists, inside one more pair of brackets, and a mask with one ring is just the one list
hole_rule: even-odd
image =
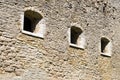
[[71,47],[85,48],[85,37],[81,28],[72,26],[69,29],[69,44]]

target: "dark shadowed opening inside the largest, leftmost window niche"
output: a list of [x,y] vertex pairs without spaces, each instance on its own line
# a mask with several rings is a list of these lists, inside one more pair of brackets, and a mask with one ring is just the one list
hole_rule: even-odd
[[42,18],[43,17],[37,12],[31,11],[31,10],[25,11],[23,30],[33,33],[35,31],[35,28],[36,28],[38,22]]

